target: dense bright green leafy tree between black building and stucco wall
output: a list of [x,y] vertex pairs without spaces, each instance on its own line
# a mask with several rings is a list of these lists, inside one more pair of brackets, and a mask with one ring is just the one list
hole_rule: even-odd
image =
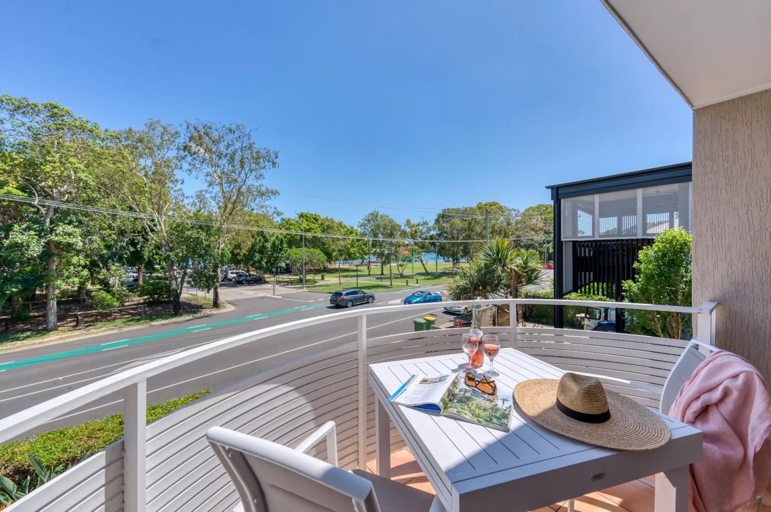
[[[674,306],[691,305],[692,237],[684,229],[668,229],[635,261],[635,279],[624,281],[625,301]],[[628,332],[655,333],[662,338],[682,339],[691,326],[690,315],[628,309]]]

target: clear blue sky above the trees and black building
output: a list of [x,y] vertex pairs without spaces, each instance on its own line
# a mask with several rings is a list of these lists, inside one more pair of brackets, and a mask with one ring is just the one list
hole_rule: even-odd
[[3,18],[0,93],[113,129],[259,127],[280,152],[268,186],[365,203],[281,194],[288,215],[524,208],[547,184],[691,160],[691,110],[599,0],[27,0]]

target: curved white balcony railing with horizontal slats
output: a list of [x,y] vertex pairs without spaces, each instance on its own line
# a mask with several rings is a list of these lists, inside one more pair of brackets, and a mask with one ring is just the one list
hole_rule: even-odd
[[[461,301],[458,305],[516,304],[618,307],[694,315],[699,339],[711,343],[715,303],[697,308],[559,299]],[[0,443],[87,403],[123,390],[124,437],[12,504],[8,510],[233,510],[237,493],[204,434],[226,426],[297,446],[323,423],[337,424],[337,458],[343,468],[365,467],[375,456],[375,399],[367,365],[393,359],[457,352],[465,328],[407,332],[367,338],[367,318],[384,312],[436,308],[436,304],[393,305],[305,318],[235,335],[67,392],[0,419]],[[358,318],[358,340],[266,369],[146,426],[146,380],[217,352],[298,328]],[[517,327],[483,328],[507,343],[563,369],[598,375],[606,386],[648,406],[657,406],[668,371],[686,343],[682,340],[612,332]],[[309,343],[309,345],[312,344]],[[298,349],[299,350],[299,349]],[[392,450],[404,446],[392,427]],[[311,454],[325,458],[325,443]]]

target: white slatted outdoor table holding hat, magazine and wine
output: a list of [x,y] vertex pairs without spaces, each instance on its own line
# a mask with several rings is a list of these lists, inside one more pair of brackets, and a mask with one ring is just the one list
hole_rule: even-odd
[[[389,418],[449,512],[536,510],[656,474],[656,512],[688,510],[689,464],[702,458],[702,433],[660,415],[672,440],[657,450],[628,452],[580,443],[537,425],[514,406],[509,433],[387,400],[409,376],[459,369],[466,355],[439,355],[369,365],[375,390],[378,473],[390,476]],[[487,367],[487,362],[486,362]],[[500,385],[559,379],[563,370],[515,349],[495,359]]]

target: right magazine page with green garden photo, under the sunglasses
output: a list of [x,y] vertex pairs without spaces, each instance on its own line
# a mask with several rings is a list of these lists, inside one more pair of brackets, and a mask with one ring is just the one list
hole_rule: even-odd
[[513,390],[497,384],[494,395],[466,386],[463,374],[453,379],[442,404],[442,414],[508,432]]

